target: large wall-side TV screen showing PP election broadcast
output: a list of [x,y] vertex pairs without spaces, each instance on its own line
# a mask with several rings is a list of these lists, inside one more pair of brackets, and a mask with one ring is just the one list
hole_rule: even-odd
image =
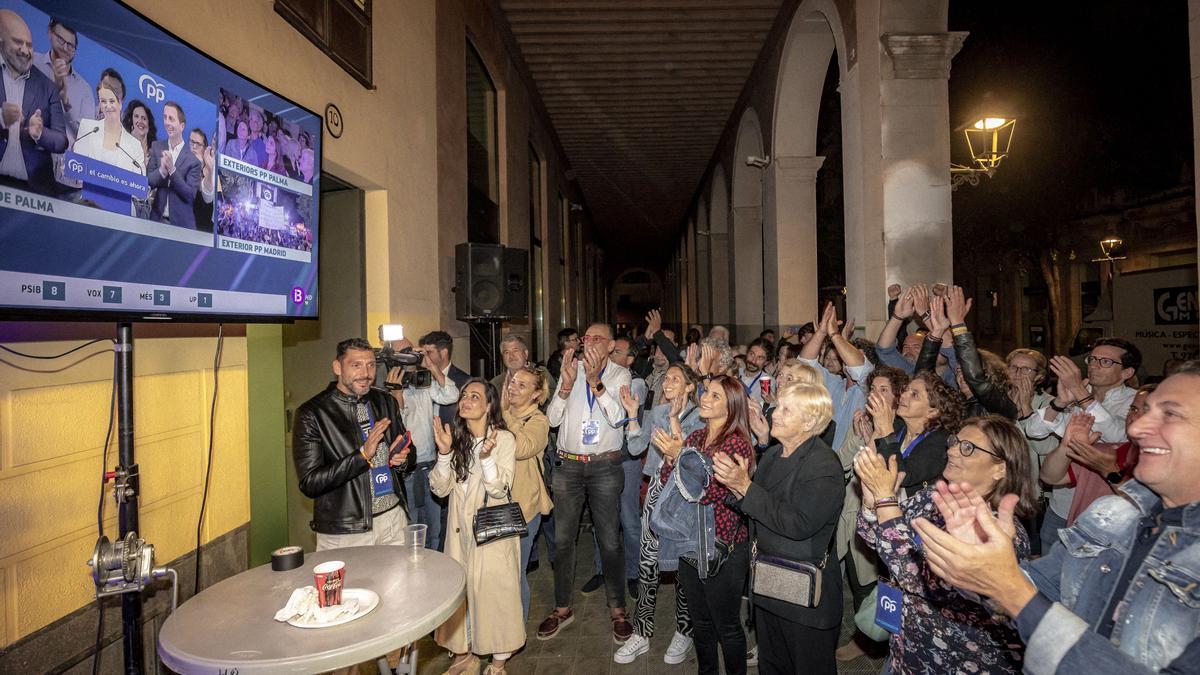
[[115,0],[0,0],[0,317],[317,316],[319,115]]

